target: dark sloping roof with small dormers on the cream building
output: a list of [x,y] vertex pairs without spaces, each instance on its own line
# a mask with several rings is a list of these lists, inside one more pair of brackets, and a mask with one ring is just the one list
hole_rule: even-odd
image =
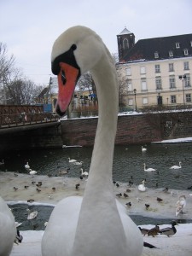
[[[192,34],[178,35],[165,38],[148,38],[138,40],[120,62],[128,61],[154,61],[169,58],[180,58],[192,55]],[[179,43],[179,48],[176,48]],[[184,49],[188,49],[188,55],[184,55]],[[169,52],[172,51],[172,57]],[[154,53],[159,58],[154,58]]]

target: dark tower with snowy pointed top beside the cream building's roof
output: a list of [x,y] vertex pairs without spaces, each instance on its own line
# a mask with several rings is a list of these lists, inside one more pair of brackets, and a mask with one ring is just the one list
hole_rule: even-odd
[[135,44],[135,35],[126,27],[117,35],[119,62],[124,61],[124,56]]

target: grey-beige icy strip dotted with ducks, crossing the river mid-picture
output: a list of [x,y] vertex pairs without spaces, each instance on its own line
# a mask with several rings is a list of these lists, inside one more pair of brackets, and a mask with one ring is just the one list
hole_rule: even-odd
[[[40,187],[37,186],[39,182],[42,183]],[[79,189],[75,188],[77,183],[80,183]],[[137,185],[129,186],[127,183],[118,183],[119,187],[113,185],[114,196],[123,205],[131,202],[131,207],[125,206],[130,215],[143,215],[150,218],[192,219],[191,190],[169,189],[168,192],[164,192],[163,188],[147,188],[145,192],[140,192]],[[65,197],[83,196],[85,186],[86,178],[81,180],[79,177],[48,177],[44,175],[32,177],[22,173],[0,172],[0,195],[4,201],[11,202],[11,204],[20,201],[27,202],[32,199],[34,204],[55,206],[58,201]],[[179,214],[176,217],[176,203],[180,195],[186,196],[187,205],[184,214]],[[158,202],[158,197],[163,201]],[[145,204],[148,204],[149,207],[146,208]],[[30,203],[30,205],[32,204]]]

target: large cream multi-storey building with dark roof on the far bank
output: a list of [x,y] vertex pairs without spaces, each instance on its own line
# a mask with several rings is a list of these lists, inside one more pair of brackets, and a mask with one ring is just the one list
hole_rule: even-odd
[[192,34],[139,40],[124,55],[119,52],[116,67],[129,108],[192,104]]

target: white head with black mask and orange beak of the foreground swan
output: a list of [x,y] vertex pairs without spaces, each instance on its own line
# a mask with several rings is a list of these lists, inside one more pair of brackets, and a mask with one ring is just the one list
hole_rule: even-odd
[[73,26],[55,40],[51,68],[59,84],[57,113],[65,113],[80,75],[96,66],[104,48],[102,39],[84,26]]

